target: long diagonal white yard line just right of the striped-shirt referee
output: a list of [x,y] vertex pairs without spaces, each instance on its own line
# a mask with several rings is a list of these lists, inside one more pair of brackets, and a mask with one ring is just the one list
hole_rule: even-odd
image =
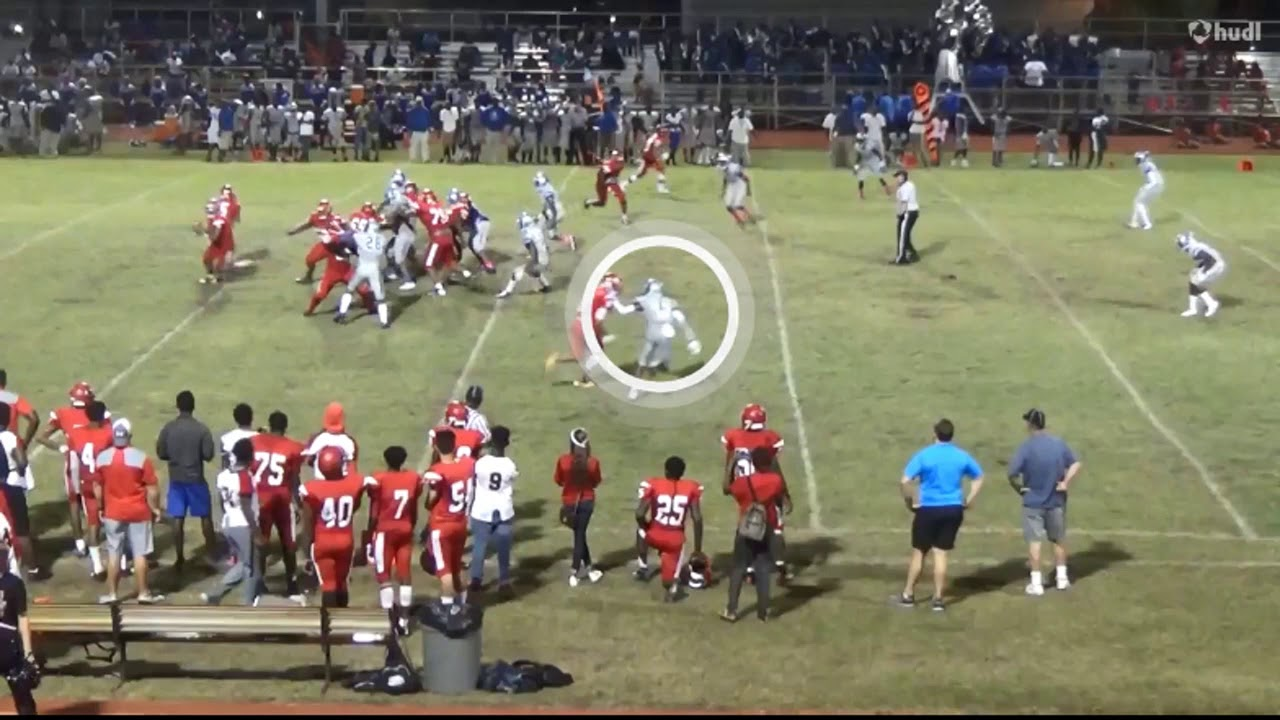
[[[938,183],[934,187],[943,196],[950,197],[956,202],[960,202],[960,197],[954,192],[951,192],[950,190],[947,190],[945,184]],[[1075,311],[1071,310],[1071,306],[1068,305],[1065,300],[1062,300],[1061,293],[1059,293],[1057,290],[1055,290],[1053,286],[1050,284],[1050,282],[1046,281],[1043,275],[1041,275],[1041,273],[1030,264],[1030,261],[1021,252],[1019,252],[1012,246],[1012,243],[1010,243],[1009,240],[987,220],[987,218],[977,213],[968,204],[960,202],[960,206],[978,227],[980,227],[992,240],[1004,246],[1005,252],[1015,263],[1018,263],[1018,265],[1021,266],[1023,272],[1029,278],[1036,281],[1036,283],[1041,287],[1044,295],[1053,301],[1053,305],[1057,306],[1062,316],[1066,318],[1066,320],[1071,324],[1073,328],[1075,328],[1075,332],[1080,334],[1084,342],[1097,354],[1098,359],[1102,360],[1102,364],[1106,365],[1107,370],[1111,373],[1111,377],[1114,377],[1115,380],[1120,383],[1120,387],[1123,387],[1124,391],[1129,395],[1129,398],[1133,401],[1134,406],[1137,406],[1138,410],[1143,414],[1143,416],[1147,418],[1147,421],[1151,423],[1151,427],[1155,428],[1156,432],[1158,432],[1161,436],[1164,436],[1164,438],[1169,442],[1169,445],[1174,446],[1174,448],[1176,448],[1178,452],[1181,454],[1183,459],[1187,460],[1187,462],[1196,470],[1196,474],[1199,475],[1201,483],[1204,484],[1204,488],[1208,489],[1210,495],[1213,496],[1217,503],[1222,506],[1222,510],[1226,511],[1226,514],[1231,518],[1231,521],[1235,523],[1236,529],[1240,530],[1240,536],[1243,536],[1245,539],[1257,539],[1258,533],[1253,529],[1253,525],[1249,524],[1249,520],[1243,514],[1240,514],[1240,511],[1235,507],[1231,500],[1222,491],[1222,487],[1208,471],[1208,468],[1206,468],[1204,464],[1199,460],[1199,457],[1197,457],[1190,451],[1190,448],[1187,447],[1187,443],[1184,443],[1183,439],[1178,437],[1178,433],[1171,430],[1169,425],[1166,425],[1164,420],[1161,420],[1160,416],[1156,415],[1156,413],[1143,398],[1142,393],[1138,392],[1138,388],[1133,384],[1133,382],[1128,378],[1128,375],[1124,374],[1120,366],[1116,365],[1115,359],[1111,357],[1111,354],[1107,352],[1107,348],[1102,345],[1102,342],[1098,341],[1098,338],[1093,334],[1093,332],[1080,320],[1079,316],[1076,316]]]

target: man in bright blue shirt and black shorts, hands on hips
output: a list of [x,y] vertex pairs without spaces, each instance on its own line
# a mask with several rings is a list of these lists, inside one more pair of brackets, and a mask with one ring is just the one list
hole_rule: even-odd
[[[943,418],[933,425],[933,445],[911,456],[902,470],[902,500],[915,514],[911,520],[911,562],[906,585],[897,597],[902,607],[915,607],[915,583],[924,570],[924,556],[933,551],[933,610],[946,610],[943,591],[947,584],[947,552],[956,543],[964,523],[964,511],[982,491],[982,468],[972,455],[951,445],[956,429]],[[964,479],[969,478],[965,493]],[[919,493],[911,487],[920,482]]]

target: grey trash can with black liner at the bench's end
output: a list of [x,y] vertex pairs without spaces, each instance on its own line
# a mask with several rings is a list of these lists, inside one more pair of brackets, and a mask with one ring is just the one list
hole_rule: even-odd
[[475,692],[480,683],[484,609],[472,605],[449,607],[433,602],[419,610],[417,623],[422,628],[422,687],[426,692]]

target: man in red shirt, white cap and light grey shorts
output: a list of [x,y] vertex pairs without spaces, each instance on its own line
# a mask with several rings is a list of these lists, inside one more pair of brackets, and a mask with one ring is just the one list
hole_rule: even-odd
[[[206,429],[205,433],[207,432]],[[110,605],[119,600],[120,559],[124,557],[124,546],[128,543],[133,553],[138,602],[151,605],[164,600],[164,596],[152,593],[147,584],[147,556],[155,551],[152,527],[160,520],[156,470],[151,459],[133,447],[133,427],[127,419],[120,418],[111,424],[111,445],[113,447],[97,456],[99,479],[93,483],[93,495],[97,497],[99,507],[102,509],[108,553],[108,592],[99,598],[99,602]],[[210,455],[212,445],[214,438],[210,437]]]

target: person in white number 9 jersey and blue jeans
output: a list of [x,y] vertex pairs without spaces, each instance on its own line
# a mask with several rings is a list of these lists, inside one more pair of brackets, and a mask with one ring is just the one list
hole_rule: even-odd
[[484,559],[490,542],[498,552],[498,592],[511,591],[512,521],[516,519],[516,478],[520,470],[511,457],[511,430],[493,428],[489,448],[476,460],[471,488],[471,589],[484,585]]

